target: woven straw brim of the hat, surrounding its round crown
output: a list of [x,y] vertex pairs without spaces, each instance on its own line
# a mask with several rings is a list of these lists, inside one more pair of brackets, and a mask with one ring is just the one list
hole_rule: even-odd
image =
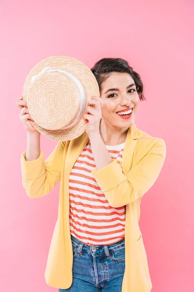
[[85,109],[83,114],[81,115],[80,120],[73,125],[71,128],[68,129],[58,129],[58,130],[48,130],[45,128],[40,127],[35,122],[30,123],[32,126],[43,135],[47,136],[48,138],[56,141],[67,141],[73,140],[85,131],[87,123],[83,120],[84,112],[87,108],[88,101],[90,100],[91,96],[100,96],[99,87],[97,84],[97,80],[92,73],[92,71],[80,60],[70,57],[70,56],[50,56],[45,58],[44,60],[37,63],[27,75],[26,80],[24,82],[22,96],[23,100],[27,101],[28,98],[28,91],[31,86],[31,78],[33,75],[37,75],[41,72],[44,67],[52,67],[52,69],[60,69],[65,70],[69,73],[75,75],[81,82],[84,91],[85,91]]

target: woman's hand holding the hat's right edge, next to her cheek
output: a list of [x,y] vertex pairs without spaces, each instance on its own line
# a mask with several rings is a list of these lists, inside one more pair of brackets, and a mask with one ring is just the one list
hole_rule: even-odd
[[[91,107],[94,105],[95,107]],[[102,117],[102,107],[104,101],[97,96],[92,96],[88,102],[88,107],[83,115],[83,120],[87,123],[86,133],[90,137],[100,133],[100,120]]]

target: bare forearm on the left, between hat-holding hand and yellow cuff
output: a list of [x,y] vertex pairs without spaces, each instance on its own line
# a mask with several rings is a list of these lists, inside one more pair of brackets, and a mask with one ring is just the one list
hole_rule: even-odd
[[33,161],[40,155],[40,133],[27,132],[26,161]]

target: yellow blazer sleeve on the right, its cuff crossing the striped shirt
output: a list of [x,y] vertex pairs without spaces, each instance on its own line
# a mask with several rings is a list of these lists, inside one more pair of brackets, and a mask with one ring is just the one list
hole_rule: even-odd
[[165,156],[165,142],[160,138],[126,175],[117,159],[99,170],[95,167],[91,173],[109,204],[117,208],[143,197],[157,180]]

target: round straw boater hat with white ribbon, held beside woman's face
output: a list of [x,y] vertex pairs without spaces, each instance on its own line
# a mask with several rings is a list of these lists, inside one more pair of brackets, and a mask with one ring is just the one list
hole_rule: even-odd
[[97,80],[81,61],[51,56],[36,64],[24,82],[32,126],[52,140],[75,139],[85,131],[83,115],[91,96],[100,96]]

